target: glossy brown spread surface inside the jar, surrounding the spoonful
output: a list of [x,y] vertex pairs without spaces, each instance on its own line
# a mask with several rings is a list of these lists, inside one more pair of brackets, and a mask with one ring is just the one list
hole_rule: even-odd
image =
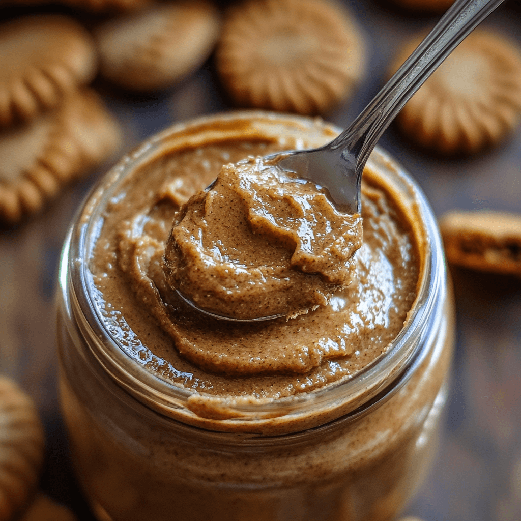
[[[187,138],[182,146],[172,147],[170,152],[135,168],[107,203],[90,269],[97,289],[95,299],[106,327],[136,362],[160,378],[191,391],[274,399],[350,378],[386,352],[402,329],[416,296],[418,252],[410,221],[399,203],[393,200],[381,179],[366,170],[362,190],[363,244],[349,267],[349,283],[334,292],[327,305],[319,305],[314,311],[289,320],[250,324],[230,323],[194,312],[172,290],[170,277],[163,270],[172,222],[181,221],[189,213],[189,206],[183,204],[204,190],[225,164],[297,146],[316,146],[307,144],[302,137],[297,141],[291,135],[284,140],[262,135],[252,138],[246,126],[243,133],[243,138],[210,137],[196,144]],[[230,188],[224,182],[219,190],[225,196],[239,197],[237,191],[229,194]],[[218,199],[219,191],[216,194]],[[313,196],[319,198],[317,194]],[[214,204],[213,199],[208,203],[199,197],[192,200],[196,203],[192,205],[194,208]],[[279,206],[270,201],[264,206],[265,203],[256,203],[259,211],[253,220],[265,210],[268,212],[261,215],[264,221],[259,219],[258,226],[263,233],[269,229],[270,237],[278,234],[281,247],[276,254],[291,264],[290,253],[293,251],[293,256],[299,251],[293,243],[299,239],[292,236],[292,231],[283,231],[284,221],[289,220],[287,215],[281,217],[283,226],[273,224],[271,219],[277,221]],[[291,207],[293,203],[283,201],[283,204]],[[241,214],[243,208],[237,209],[239,206],[234,205],[229,211],[234,219],[240,220],[244,214]],[[312,215],[320,220],[326,218],[327,212],[321,210]],[[298,218],[307,219],[298,208],[295,215],[295,222]],[[256,225],[243,222],[244,230],[250,226],[247,233],[251,238]],[[343,231],[339,237],[343,237]],[[327,250],[334,244],[334,240],[328,242],[328,237],[322,239],[316,250],[307,251],[302,241],[299,243],[302,255],[296,261],[300,266],[296,272],[302,279],[308,276],[303,268],[307,266],[306,256],[316,255],[321,248]],[[227,243],[225,256],[237,255],[244,262],[251,243],[243,245],[241,240],[236,245]],[[255,246],[255,252],[262,253],[256,262],[269,266],[271,251],[266,247],[265,237],[262,241],[262,245]],[[267,242],[269,246],[270,241]],[[333,249],[331,246],[329,252]],[[166,259],[168,263],[169,247]],[[326,290],[330,281],[336,284],[341,280],[344,286],[339,266],[322,260],[324,267],[317,271],[321,272],[318,278]],[[313,259],[310,262],[313,265]],[[274,261],[272,267],[276,265]],[[276,268],[282,272],[286,269],[283,265]],[[316,279],[313,275],[314,283]],[[245,276],[243,282],[248,280]]]

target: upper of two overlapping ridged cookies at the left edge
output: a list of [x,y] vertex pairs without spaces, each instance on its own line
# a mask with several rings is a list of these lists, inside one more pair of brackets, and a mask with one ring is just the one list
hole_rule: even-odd
[[90,34],[72,18],[28,16],[0,26],[0,127],[58,106],[96,73]]

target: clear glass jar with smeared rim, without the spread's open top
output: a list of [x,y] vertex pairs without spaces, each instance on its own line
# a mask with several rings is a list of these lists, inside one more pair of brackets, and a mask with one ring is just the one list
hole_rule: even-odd
[[306,146],[339,132],[318,120],[250,111],[173,126],[107,174],[65,242],[61,407],[73,464],[100,521],[383,521],[400,512],[431,461],[452,353],[453,299],[429,204],[379,148],[368,168],[412,216],[420,280],[398,337],[353,378],[301,396],[233,402],[219,415],[129,356],[97,311],[88,259],[121,180],[170,153],[180,136],[197,143],[210,129],[239,139],[252,121],[257,133],[302,135]]

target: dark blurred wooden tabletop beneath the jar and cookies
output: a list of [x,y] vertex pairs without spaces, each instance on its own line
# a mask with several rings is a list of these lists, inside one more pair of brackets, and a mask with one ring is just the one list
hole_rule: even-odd
[[[340,126],[377,92],[396,46],[436,20],[398,13],[383,2],[346,2],[366,32],[369,67],[352,103],[327,115]],[[20,12],[0,8],[0,18]],[[85,19],[83,14],[75,16]],[[521,4],[510,0],[483,25],[521,45]],[[125,150],[173,121],[232,108],[211,59],[180,85],[153,96],[129,97],[99,80],[95,86],[121,121]],[[521,213],[519,129],[501,146],[468,159],[421,153],[392,128],[381,144],[418,180],[437,215],[452,208]],[[42,415],[47,437],[42,488],[85,521],[93,517],[70,469],[58,408],[53,302],[69,222],[108,167],[69,187],[42,214],[15,228],[0,228],[0,372],[21,384]],[[453,279],[457,344],[439,456],[407,512],[425,521],[519,521],[521,281],[466,270],[453,270]]]

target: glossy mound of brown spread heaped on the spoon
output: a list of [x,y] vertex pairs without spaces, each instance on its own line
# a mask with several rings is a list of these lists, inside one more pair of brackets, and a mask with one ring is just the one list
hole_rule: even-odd
[[351,280],[359,214],[339,212],[311,182],[249,158],[222,167],[191,197],[168,239],[168,283],[197,306],[233,318],[295,317]]

